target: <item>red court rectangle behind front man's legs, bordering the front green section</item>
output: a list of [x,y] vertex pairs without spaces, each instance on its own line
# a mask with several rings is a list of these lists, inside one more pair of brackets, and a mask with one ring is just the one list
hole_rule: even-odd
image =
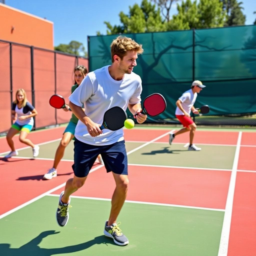
[[[224,209],[230,172],[129,166],[127,200]],[[97,184],[95,186],[95,184]],[[111,173],[105,168],[90,173],[74,196],[111,198],[114,189]],[[59,189],[54,194],[60,194]]]

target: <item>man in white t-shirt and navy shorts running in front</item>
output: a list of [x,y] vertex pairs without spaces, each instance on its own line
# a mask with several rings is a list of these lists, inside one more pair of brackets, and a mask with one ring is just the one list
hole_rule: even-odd
[[129,184],[124,134],[123,129],[101,130],[100,126],[104,113],[114,106],[124,110],[128,107],[140,124],[146,120],[147,115],[141,113],[142,81],[132,72],[143,49],[142,45],[123,36],[113,40],[110,47],[112,64],[89,72],[69,97],[69,106],[79,119],[74,134],[74,177],[67,181],[65,191],[60,194],[56,217],[60,226],[67,224],[70,195],[83,186],[94,161],[101,154],[105,168],[107,172],[112,172],[116,184],[104,234],[123,246],[129,241],[116,220]]

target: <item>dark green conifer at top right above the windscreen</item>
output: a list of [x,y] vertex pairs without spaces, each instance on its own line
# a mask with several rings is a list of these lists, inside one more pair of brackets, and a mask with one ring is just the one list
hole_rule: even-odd
[[243,7],[240,5],[243,2],[237,2],[237,0],[220,0],[223,3],[223,10],[226,13],[226,22],[224,26],[236,26],[244,25],[246,16],[243,15]]

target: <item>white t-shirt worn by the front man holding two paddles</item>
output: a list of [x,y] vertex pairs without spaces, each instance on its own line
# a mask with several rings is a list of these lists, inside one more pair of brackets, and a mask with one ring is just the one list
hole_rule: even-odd
[[[69,96],[69,100],[77,105],[84,104],[85,114],[100,125],[103,123],[104,113],[119,106],[126,110],[128,103],[137,104],[141,102],[141,78],[135,73],[124,74],[120,81],[114,80],[108,70],[109,66],[102,67],[89,72],[80,86]],[[75,137],[90,145],[110,145],[124,140],[123,129],[110,131],[103,129],[102,134],[92,137],[87,126],[80,120],[77,123]]]

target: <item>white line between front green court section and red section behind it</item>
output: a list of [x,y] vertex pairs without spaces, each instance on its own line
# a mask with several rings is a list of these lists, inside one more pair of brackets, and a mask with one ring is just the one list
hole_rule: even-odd
[[[57,196],[56,194],[49,194],[47,196]],[[81,198],[81,199],[90,199],[90,200],[101,200],[101,201],[111,201],[108,198],[99,198],[99,197],[87,197],[87,196],[72,196],[72,198]],[[172,204],[162,204],[162,203],[154,203],[154,202],[142,202],[142,201],[131,201],[125,200],[126,203],[133,204],[144,204],[144,205],[159,205],[159,206],[171,206],[171,207],[181,207],[181,208],[190,208],[190,209],[199,209],[199,210],[210,210],[210,211],[225,211],[224,209],[215,209],[215,208],[207,208],[207,207],[196,207],[196,206],[187,206],[187,205],[172,205]]]

